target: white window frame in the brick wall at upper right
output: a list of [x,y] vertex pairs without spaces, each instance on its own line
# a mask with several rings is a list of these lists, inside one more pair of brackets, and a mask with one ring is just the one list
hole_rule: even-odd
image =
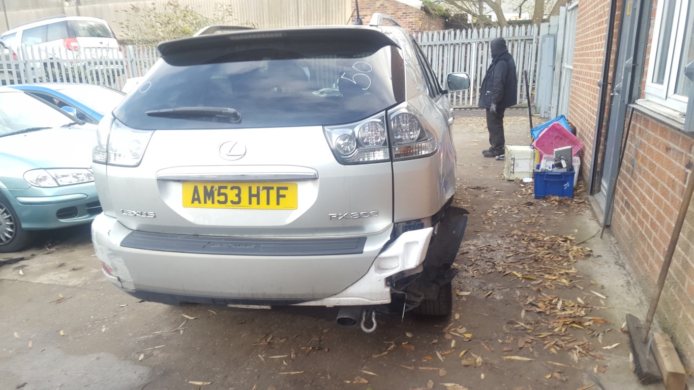
[[[672,30],[672,38],[668,50],[668,58],[666,58],[666,71],[663,84],[653,82],[655,74],[655,60],[658,55],[660,30],[663,23],[663,13],[668,1],[675,1],[674,19],[672,26],[677,26]],[[688,0],[662,0],[658,2],[653,35],[651,39],[651,47],[648,58],[648,71],[646,72],[646,81],[644,94],[645,98],[659,103],[666,107],[676,109],[679,112],[686,112],[688,97],[675,94],[675,84],[677,83],[677,75],[679,74],[679,62],[682,57],[682,45],[685,41],[686,23],[690,10]]]

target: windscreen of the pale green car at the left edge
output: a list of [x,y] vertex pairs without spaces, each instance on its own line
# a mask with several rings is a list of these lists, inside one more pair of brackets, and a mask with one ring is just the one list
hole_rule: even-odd
[[62,127],[74,119],[22,92],[0,92],[0,136]]

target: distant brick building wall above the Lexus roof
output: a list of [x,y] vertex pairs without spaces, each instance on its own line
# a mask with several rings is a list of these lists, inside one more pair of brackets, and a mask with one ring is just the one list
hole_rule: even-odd
[[424,10],[418,10],[396,0],[360,0],[359,15],[364,24],[369,24],[373,12],[390,15],[410,33],[418,31],[443,30],[446,20],[443,17],[429,15]]

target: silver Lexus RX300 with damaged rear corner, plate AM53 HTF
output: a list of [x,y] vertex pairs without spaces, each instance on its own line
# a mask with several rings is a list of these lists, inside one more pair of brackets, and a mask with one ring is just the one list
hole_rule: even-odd
[[375,312],[449,314],[467,221],[451,206],[452,108],[414,39],[382,21],[159,44],[99,124],[105,276],[174,305],[341,306],[365,330]]

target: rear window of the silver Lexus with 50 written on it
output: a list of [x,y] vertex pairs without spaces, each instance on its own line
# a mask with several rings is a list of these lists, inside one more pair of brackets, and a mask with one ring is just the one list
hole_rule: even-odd
[[396,46],[235,44],[164,55],[114,114],[144,130],[350,123],[402,102],[403,73]]

